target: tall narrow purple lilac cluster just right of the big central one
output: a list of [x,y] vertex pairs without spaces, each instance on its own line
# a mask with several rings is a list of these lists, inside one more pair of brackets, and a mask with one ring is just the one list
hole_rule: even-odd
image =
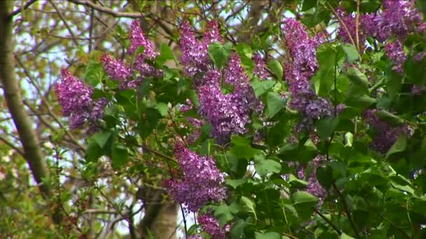
[[309,83],[318,68],[316,48],[324,42],[324,37],[311,38],[303,25],[292,18],[284,21],[284,31],[289,54],[293,58],[285,65],[285,77],[292,96],[290,106],[303,116],[296,130],[312,129],[315,119],[332,113],[331,103],[317,97]]

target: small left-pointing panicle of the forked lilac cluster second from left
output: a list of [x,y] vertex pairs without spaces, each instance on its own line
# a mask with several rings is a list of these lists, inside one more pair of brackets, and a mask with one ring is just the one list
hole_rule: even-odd
[[132,75],[130,67],[110,55],[102,55],[101,61],[109,78],[113,80],[127,80]]

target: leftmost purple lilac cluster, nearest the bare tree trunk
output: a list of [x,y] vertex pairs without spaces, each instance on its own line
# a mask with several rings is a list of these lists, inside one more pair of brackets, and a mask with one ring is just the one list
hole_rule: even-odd
[[93,101],[92,92],[92,87],[71,75],[67,69],[61,70],[61,82],[55,83],[55,93],[62,106],[62,115],[71,119],[71,129],[82,128],[88,122],[89,132],[96,131],[97,121],[103,117],[108,101],[104,98]]

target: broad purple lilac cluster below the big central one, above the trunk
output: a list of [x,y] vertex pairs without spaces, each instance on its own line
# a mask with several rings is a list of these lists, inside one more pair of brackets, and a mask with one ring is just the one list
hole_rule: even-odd
[[175,201],[197,212],[206,203],[226,198],[226,189],[221,185],[224,175],[212,157],[200,157],[181,143],[175,146],[174,157],[184,171],[184,178],[165,180],[165,187]]

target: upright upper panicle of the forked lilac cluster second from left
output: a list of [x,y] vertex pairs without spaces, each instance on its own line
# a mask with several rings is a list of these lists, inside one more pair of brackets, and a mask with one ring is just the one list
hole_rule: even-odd
[[130,47],[128,49],[130,54],[134,54],[140,46],[144,47],[144,57],[148,59],[155,58],[158,53],[154,52],[153,45],[149,39],[147,39],[139,25],[139,20],[133,20],[130,26]]

